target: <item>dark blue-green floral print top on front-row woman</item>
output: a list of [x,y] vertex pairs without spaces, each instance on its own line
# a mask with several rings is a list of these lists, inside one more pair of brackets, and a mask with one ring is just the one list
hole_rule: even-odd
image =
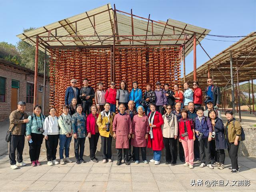
[[75,113],[72,115],[72,130],[77,134],[77,138],[85,138],[86,131],[86,114]]

